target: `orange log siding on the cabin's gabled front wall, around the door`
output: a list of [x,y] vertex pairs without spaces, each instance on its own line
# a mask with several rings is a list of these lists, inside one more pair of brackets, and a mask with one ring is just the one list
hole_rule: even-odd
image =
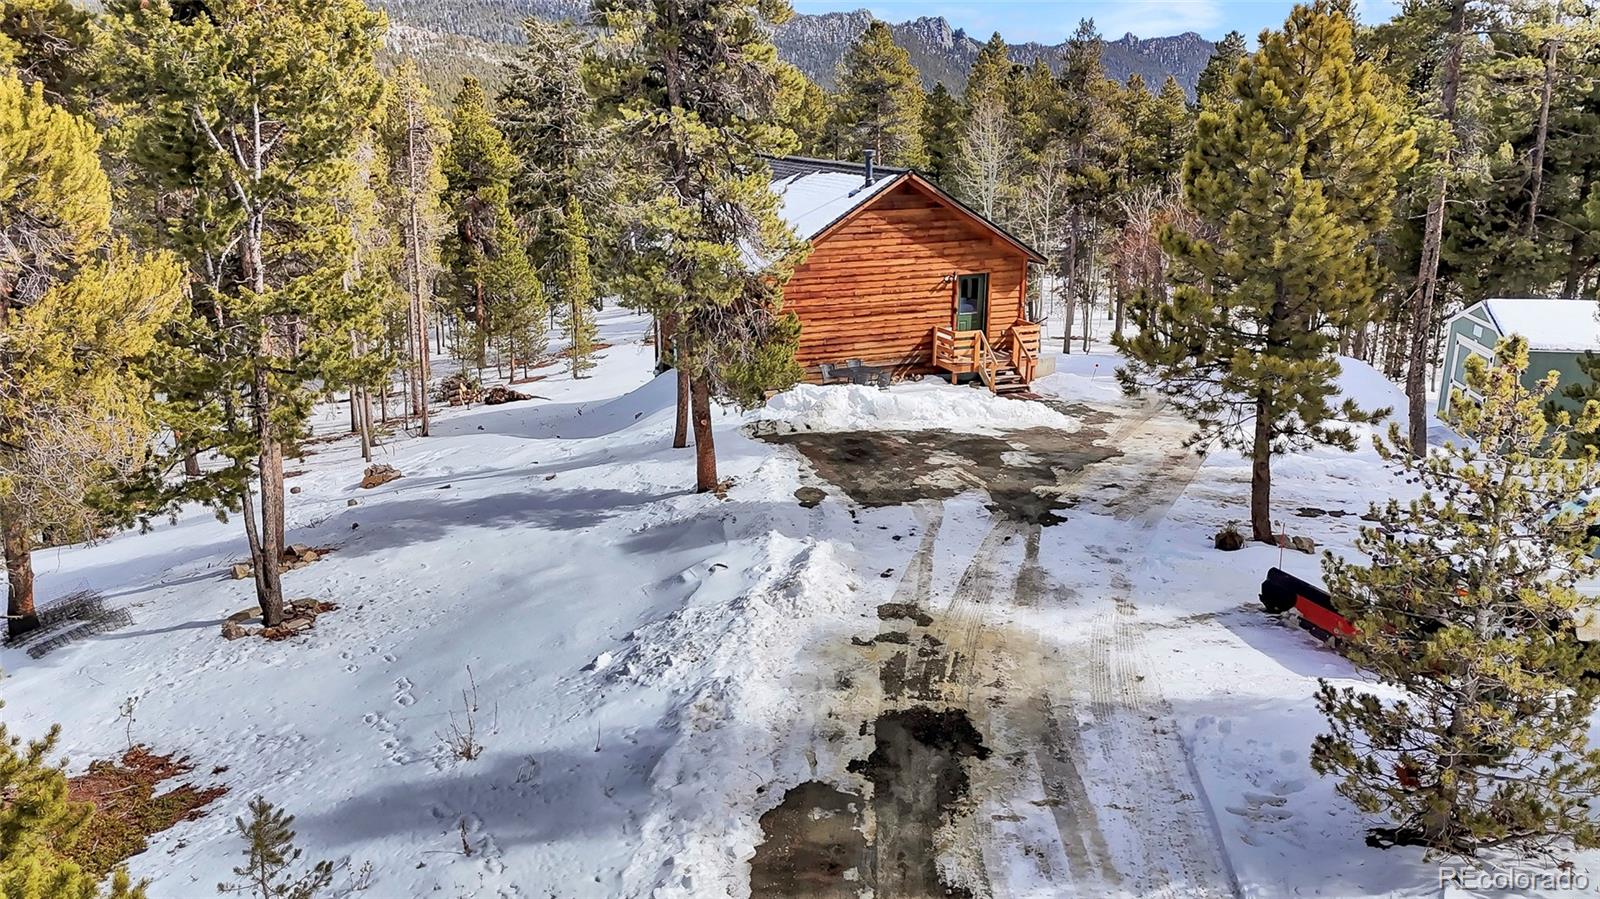
[[784,288],[806,378],[851,358],[902,378],[938,371],[931,334],[955,322],[950,275],[974,272],[989,272],[994,342],[1026,314],[1027,256],[910,181],[874,197],[814,240]]

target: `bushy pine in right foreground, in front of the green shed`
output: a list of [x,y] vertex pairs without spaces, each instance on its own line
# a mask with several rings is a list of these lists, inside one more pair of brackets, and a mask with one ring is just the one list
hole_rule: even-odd
[[[1587,741],[1600,697],[1597,654],[1578,640],[1578,585],[1600,571],[1587,529],[1600,507],[1595,451],[1563,457],[1568,437],[1600,427],[1600,403],[1573,419],[1539,414],[1557,376],[1523,387],[1526,342],[1467,362],[1469,398],[1451,424],[1462,443],[1426,459],[1398,427],[1379,453],[1422,496],[1373,507],[1357,552],[1323,573],[1357,633],[1352,662],[1402,696],[1326,681],[1317,694],[1330,733],[1312,768],[1389,822],[1382,841],[1442,853],[1485,848],[1547,853],[1600,846],[1600,750]],[[1558,510],[1552,513],[1552,510]]]

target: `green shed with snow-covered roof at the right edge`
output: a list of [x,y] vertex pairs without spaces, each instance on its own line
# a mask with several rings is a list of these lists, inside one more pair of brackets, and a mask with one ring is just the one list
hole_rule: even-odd
[[[1490,358],[1501,338],[1522,334],[1528,339],[1528,373],[1531,387],[1550,371],[1562,374],[1562,384],[1587,381],[1578,368],[1578,357],[1600,354],[1600,304],[1592,299],[1485,299],[1458,312],[1445,325],[1445,378],[1438,390],[1438,411],[1450,408],[1450,394],[1467,394],[1467,358]],[[1571,405],[1565,397],[1558,403]]]

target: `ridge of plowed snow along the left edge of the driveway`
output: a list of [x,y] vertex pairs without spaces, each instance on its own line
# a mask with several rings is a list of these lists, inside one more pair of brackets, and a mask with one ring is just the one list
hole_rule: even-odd
[[797,677],[818,672],[818,648],[845,641],[859,624],[859,584],[829,541],[773,531],[758,545],[749,593],[686,603],[634,632],[613,662],[614,686],[677,688],[662,721],[677,736],[651,773],[651,813],[624,872],[624,894],[688,899],[749,889],[760,813],[782,797],[779,785],[811,777],[818,747],[845,753],[837,766],[859,750],[851,741],[818,739],[822,678]]

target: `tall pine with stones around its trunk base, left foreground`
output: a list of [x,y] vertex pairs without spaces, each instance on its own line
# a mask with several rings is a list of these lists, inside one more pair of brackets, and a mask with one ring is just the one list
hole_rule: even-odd
[[192,315],[160,360],[166,416],[179,453],[229,462],[166,499],[242,512],[272,627],[283,619],[283,456],[330,381],[304,338],[339,333],[357,302],[338,205],[381,101],[384,18],[360,0],[109,6],[133,174],[150,195],[187,197],[155,230],[195,280]]

